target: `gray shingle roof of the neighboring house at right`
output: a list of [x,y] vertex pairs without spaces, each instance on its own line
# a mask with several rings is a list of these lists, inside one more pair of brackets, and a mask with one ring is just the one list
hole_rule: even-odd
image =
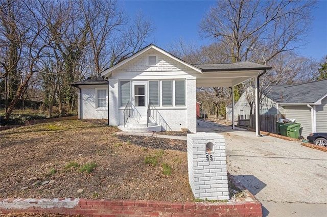
[[279,104],[319,104],[327,96],[327,79],[299,85],[269,86],[264,94]]

